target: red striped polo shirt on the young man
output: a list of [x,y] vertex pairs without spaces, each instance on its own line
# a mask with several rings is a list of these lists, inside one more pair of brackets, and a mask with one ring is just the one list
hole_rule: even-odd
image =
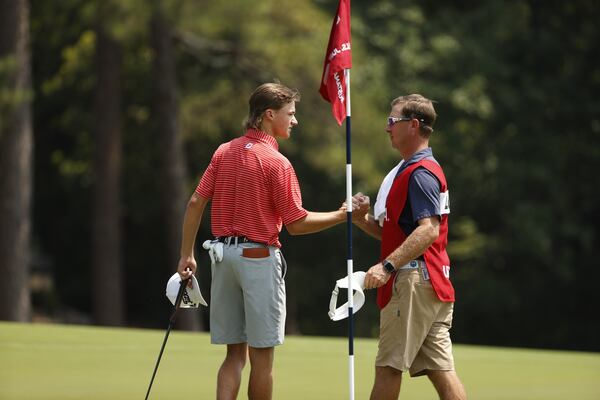
[[196,193],[212,201],[214,236],[246,236],[281,247],[282,224],[308,214],[292,164],[273,136],[255,129],[219,146]]

